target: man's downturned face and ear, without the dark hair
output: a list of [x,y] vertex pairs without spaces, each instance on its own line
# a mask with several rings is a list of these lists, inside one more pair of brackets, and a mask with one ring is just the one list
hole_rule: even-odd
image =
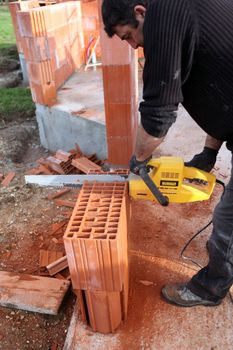
[[138,20],[137,28],[134,28],[130,24],[120,25],[118,24],[115,29],[115,34],[121,39],[126,40],[133,49],[143,47],[143,24],[146,9],[143,6],[135,6],[134,9],[135,18]]

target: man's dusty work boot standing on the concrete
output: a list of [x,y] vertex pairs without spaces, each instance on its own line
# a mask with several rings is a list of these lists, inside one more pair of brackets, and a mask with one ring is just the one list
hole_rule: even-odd
[[204,300],[191,292],[185,283],[168,284],[162,288],[162,294],[170,303],[187,307],[196,305],[216,306],[222,301],[221,299],[218,301]]

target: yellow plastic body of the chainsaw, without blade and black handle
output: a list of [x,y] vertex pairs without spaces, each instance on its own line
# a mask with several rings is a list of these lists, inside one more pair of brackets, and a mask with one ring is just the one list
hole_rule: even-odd
[[[210,198],[216,178],[213,174],[184,166],[180,157],[151,159],[149,176],[170,203],[188,203]],[[157,201],[141,179],[129,181],[129,193],[134,199]]]

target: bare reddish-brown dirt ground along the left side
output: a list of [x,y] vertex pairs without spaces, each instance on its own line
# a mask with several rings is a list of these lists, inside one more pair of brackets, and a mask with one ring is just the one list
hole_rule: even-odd
[[[1,270],[38,275],[40,249],[64,252],[63,244],[51,241],[51,225],[64,220],[70,208],[48,200],[51,189],[24,185],[25,172],[47,156],[39,146],[35,119],[0,129],[0,173],[16,172],[10,185],[0,188]],[[69,193],[69,198],[75,197],[77,192]],[[57,316],[0,307],[0,349],[62,349],[74,303],[69,292]]]

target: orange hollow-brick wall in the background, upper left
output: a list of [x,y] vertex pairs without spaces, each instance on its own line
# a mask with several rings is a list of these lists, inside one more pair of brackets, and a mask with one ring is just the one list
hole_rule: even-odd
[[21,11],[16,10],[21,5],[13,4],[32,98],[51,106],[56,102],[57,89],[83,64],[81,4],[69,1]]

